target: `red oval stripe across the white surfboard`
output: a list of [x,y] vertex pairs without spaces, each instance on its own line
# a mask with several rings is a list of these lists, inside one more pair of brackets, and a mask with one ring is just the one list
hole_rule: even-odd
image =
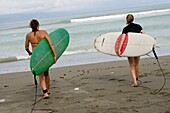
[[121,34],[117,40],[116,40],[116,43],[115,43],[115,52],[118,56],[121,56],[123,54],[123,52],[125,51],[126,47],[127,47],[127,43],[128,43],[128,34],[125,35],[125,39],[124,39],[124,42],[122,44],[122,47],[120,49],[120,54],[118,53],[118,50],[119,50],[119,46],[120,46],[120,42],[122,40],[122,37],[123,37],[123,34]]

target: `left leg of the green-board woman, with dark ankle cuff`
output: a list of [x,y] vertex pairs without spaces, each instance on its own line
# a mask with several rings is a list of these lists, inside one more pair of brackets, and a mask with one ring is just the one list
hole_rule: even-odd
[[47,87],[46,87],[46,83],[45,83],[45,79],[44,79],[44,73],[39,75],[39,81],[40,81],[40,85],[41,85],[41,88],[44,93],[44,98],[48,98],[49,95],[47,93]]

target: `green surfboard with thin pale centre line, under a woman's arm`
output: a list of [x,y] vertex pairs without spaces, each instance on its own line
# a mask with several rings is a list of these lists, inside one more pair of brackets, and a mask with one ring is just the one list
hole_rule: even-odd
[[[69,43],[69,34],[63,29],[49,34],[57,53],[57,59],[63,54]],[[54,55],[46,38],[43,38],[34,49],[30,58],[30,69],[33,74],[40,75],[54,64]]]

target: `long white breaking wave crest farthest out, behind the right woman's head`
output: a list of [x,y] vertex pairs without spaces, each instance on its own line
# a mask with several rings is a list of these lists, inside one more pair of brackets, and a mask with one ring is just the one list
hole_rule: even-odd
[[[166,12],[170,12],[170,9],[135,12],[135,13],[132,13],[132,14],[134,16],[147,16],[147,15],[166,13]],[[70,21],[71,21],[71,23],[79,23],[79,22],[90,22],[90,21],[96,21],[96,20],[120,19],[120,18],[124,18],[126,15],[127,15],[127,13],[115,14],[115,15],[107,15],[107,16],[77,18],[77,19],[71,19]]]

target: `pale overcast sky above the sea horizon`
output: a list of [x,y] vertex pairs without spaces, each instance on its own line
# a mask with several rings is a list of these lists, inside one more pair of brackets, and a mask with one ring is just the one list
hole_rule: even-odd
[[170,0],[1,0],[0,15],[27,12],[90,12],[170,3]]

